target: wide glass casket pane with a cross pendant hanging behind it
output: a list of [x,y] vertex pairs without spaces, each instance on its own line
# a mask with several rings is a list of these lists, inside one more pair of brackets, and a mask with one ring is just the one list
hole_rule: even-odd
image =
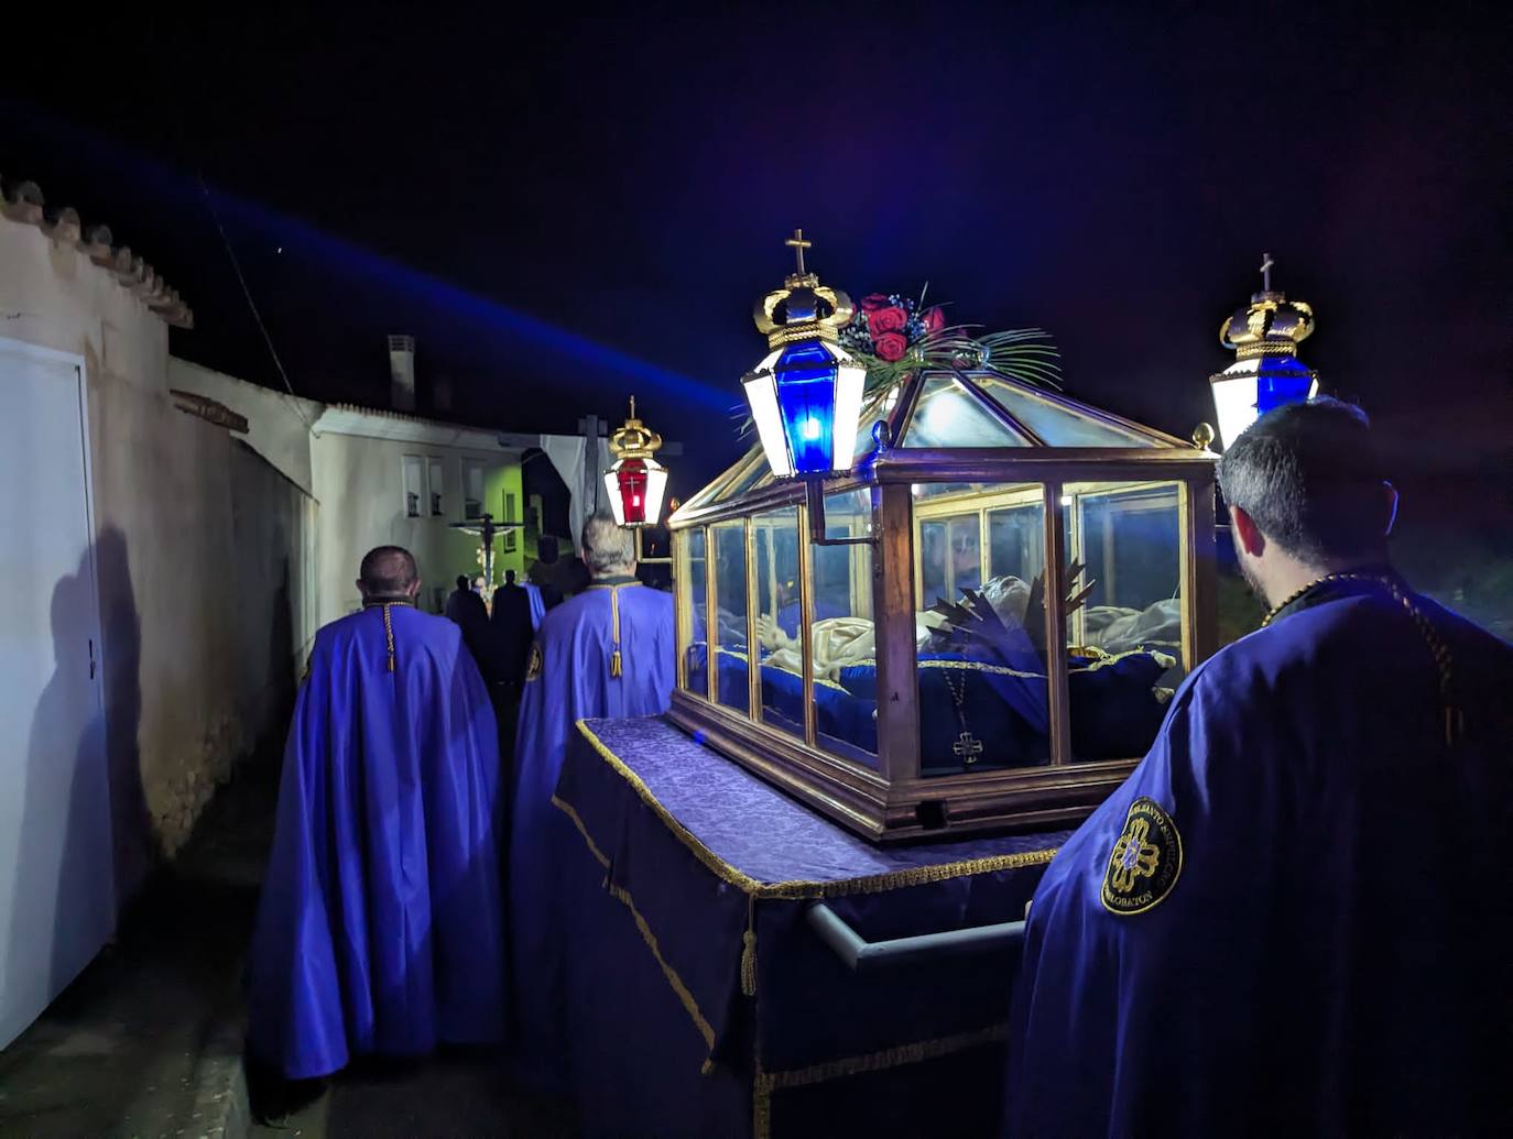
[[1038,484],[990,484],[965,499],[915,499],[924,776],[1050,762],[1045,607],[1035,588],[1042,495]]

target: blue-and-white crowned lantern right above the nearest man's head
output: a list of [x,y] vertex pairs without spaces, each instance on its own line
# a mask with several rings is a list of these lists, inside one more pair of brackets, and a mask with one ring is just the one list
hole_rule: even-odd
[[1219,343],[1235,349],[1235,363],[1209,377],[1224,446],[1271,408],[1318,393],[1318,372],[1298,360],[1298,342],[1313,331],[1313,309],[1272,290],[1272,265],[1265,254],[1262,290],[1219,325]]

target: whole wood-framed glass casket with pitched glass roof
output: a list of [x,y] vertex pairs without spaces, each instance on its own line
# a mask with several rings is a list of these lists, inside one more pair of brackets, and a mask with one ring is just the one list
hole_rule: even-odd
[[856,437],[823,498],[753,446],[669,520],[673,720],[879,841],[1080,820],[1215,647],[1213,455],[991,371]]

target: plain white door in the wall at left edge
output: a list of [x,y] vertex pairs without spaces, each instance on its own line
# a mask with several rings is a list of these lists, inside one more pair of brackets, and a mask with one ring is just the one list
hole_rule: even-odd
[[0,1048],[115,924],[85,381],[0,339]]

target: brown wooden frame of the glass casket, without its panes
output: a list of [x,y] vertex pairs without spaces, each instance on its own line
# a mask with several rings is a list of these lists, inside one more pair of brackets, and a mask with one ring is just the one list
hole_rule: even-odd
[[[882,440],[897,439],[909,422],[924,383],[932,374],[911,377],[897,393],[891,413],[879,430]],[[920,770],[920,690],[915,649],[915,502],[912,487],[927,483],[1036,484],[1044,507],[1045,596],[1067,596],[1064,581],[1068,551],[1067,528],[1059,508],[1064,487],[1085,483],[1176,484],[1179,489],[1179,542],[1182,573],[1182,647],[1191,670],[1216,647],[1216,582],[1213,563],[1213,467],[1215,457],[1171,436],[1091,408],[1056,393],[1035,398],[1076,410],[1089,421],[1130,436],[1145,446],[1045,446],[1012,414],[994,405],[979,390],[976,377],[956,374],[964,387],[991,405],[996,419],[1012,424],[1026,439],[1023,446],[1002,448],[912,448],[881,446],[844,478],[825,484],[825,495],[855,490],[870,495],[870,532],[858,542],[873,543],[871,617],[876,644],[878,765],[826,750],[819,741],[814,700],[814,578],[811,492],[799,481],[761,479],[728,501],[701,493],[670,519],[678,590],[678,687],[672,697],[675,723],[750,768],[761,777],[811,805],[822,814],[875,841],[906,841],[1005,829],[1045,829],[1080,821],[1130,773],[1141,756],[1077,761],[1071,755],[1068,700],[1067,622],[1059,605],[1047,605],[1047,688],[1050,712],[1050,759],[1041,767],[964,771],[924,776]],[[755,473],[760,448],[725,478],[738,486]],[[711,487],[713,489],[713,487]],[[714,501],[711,501],[711,498]],[[753,526],[758,514],[796,508],[799,534],[799,605],[803,652],[802,738],[763,723],[761,667],[758,644],[756,567]],[[708,644],[707,691],[687,691],[687,647],[693,640],[693,613],[685,602],[690,581],[690,535],[705,534],[704,596],[705,629],[713,638],[710,614],[716,599],[716,523],[743,522],[746,537],[746,643],[753,663],[747,667],[747,714],[717,699],[714,646]],[[834,540],[832,540],[834,542]]]

